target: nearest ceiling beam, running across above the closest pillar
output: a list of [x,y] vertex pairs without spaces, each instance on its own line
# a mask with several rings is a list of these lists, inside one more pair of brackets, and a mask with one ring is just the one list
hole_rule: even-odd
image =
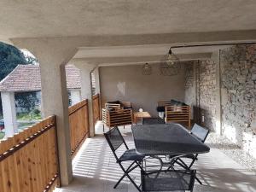
[[226,31],[226,32],[186,32],[186,33],[163,33],[143,35],[111,35],[111,36],[82,36],[62,38],[11,38],[15,45],[22,47],[24,44],[37,44],[62,42],[79,47],[102,47],[102,46],[125,46],[147,44],[220,44],[220,43],[248,43],[256,42],[256,30]]

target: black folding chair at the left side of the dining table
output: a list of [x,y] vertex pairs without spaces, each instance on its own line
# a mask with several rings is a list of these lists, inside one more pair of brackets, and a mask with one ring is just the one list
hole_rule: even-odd
[[[119,128],[116,126],[113,129],[111,129],[110,131],[108,131],[107,133],[104,133],[104,136],[107,139],[108,145],[111,148],[113,155],[116,159],[116,162],[119,164],[120,168],[122,169],[122,171],[124,172],[124,175],[122,177],[119,178],[119,181],[114,185],[114,189],[117,188],[117,186],[119,185],[119,183],[125,178],[128,177],[131,181],[131,183],[133,183],[133,185],[139,190],[141,191],[141,189],[137,186],[137,184],[132,180],[132,178],[130,177],[129,173],[131,171],[133,171],[134,169],[136,169],[137,167],[139,167],[141,170],[143,170],[143,167],[140,165],[143,161],[144,156],[139,155],[136,153],[136,150],[133,149],[129,149],[127,144],[125,143],[125,139],[124,137],[122,137]],[[122,154],[120,157],[118,157],[118,155],[116,154],[116,150],[122,145],[125,145],[125,153]],[[122,165],[122,162],[124,161],[132,161],[131,165],[128,166],[128,168],[125,169],[125,167]]]

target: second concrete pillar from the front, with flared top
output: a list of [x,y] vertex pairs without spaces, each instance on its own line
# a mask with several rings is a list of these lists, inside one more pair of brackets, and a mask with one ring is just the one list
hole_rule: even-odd
[[93,122],[93,108],[92,108],[92,91],[90,73],[96,68],[96,65],[88,64],[86,62],[74,62],[76,67],[81,70],[81,97],[88,99],[89,109],[89,124],[90,124],[90,137],[95,136],[95,127]]

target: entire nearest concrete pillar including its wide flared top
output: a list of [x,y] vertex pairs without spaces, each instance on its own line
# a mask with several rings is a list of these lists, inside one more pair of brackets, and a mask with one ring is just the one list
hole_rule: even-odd
[[77,52],[73,41],[59,38],[24,38],[14,40],[38,58],[42,85],[43,116],[56,115],[61,184],[72,181],[72,157],[68,122],[68,94],[65,65]]

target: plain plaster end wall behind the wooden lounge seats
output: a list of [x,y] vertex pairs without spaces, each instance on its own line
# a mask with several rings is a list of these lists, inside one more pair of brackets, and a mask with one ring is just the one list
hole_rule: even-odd
[[162,76],[158,64],[152,74],[143,75],[142,66],[100,67],[102,105],[109,101],[129,101],[133,108],[143,108],[157,116],[159,101],[184,99],[183,66],[176,76]]

